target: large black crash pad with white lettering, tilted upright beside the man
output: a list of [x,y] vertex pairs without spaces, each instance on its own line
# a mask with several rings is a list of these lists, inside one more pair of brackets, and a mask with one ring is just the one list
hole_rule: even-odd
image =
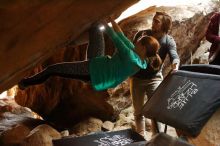
[[183,66],[169,74],[144,105],[146,118],[197,136],[220,107],[220,66]]

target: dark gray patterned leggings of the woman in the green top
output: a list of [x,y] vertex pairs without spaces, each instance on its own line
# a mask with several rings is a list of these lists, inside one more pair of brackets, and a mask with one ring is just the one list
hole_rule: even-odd
[[50,76],[90,81],[89,60],[97,56],[104,56],[104,52],[105,44],[103,32],[99,30],[98,26],[92,26],[89,29],[89,46],[86,61],[52,64],[38,74],[22,79],[19,84],[22,87],[40,84],[46,81]]

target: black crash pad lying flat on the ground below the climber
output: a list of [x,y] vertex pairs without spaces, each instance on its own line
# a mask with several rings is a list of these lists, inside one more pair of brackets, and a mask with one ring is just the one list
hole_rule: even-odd
[[123,146],[126,144],[145,141],[131,129],[100,132],[82,137],[67,137],[53,140],[54,146]]

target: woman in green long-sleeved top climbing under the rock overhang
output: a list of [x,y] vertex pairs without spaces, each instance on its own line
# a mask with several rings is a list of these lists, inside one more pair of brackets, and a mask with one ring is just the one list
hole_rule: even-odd
[[160,46],[155,38],[142,36],[134,46],[112,18],[110,22],[112,27],[105,21],[102,25],[116,48],[112,57],[104,55],[103,32],[98,23],[89,29],[87,60],[52,64],[43,71],[22,79],[18,83],[19,88],[25,89],[27,86],[43,83],[50,76],[59,76],[89,82],[95,90],[100,91],[113,88],[140,69],[146,69],[147,64],[151,64],[148,62],[149,57],[155,58],[154,63],[161,61],[157,54]]

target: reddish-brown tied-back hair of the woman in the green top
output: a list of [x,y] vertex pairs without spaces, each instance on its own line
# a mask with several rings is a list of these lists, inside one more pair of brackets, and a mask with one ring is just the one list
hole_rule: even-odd
[[159,70],[162,65],[162,60],[158,55],[160,44],[157,39],[152,36],[144,35],[138,39],[138,42],[139,41],[146,47],[146,61],[148,62],[148,68],[153,71]]

